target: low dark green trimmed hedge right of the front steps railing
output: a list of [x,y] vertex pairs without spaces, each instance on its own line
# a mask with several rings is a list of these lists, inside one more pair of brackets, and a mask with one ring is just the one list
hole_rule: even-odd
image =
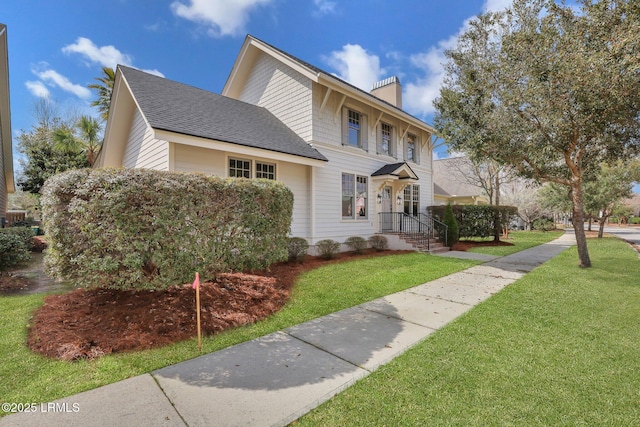
[[[442,221],[446,208],[446,206],[430,206],[427,209],[434,218]],[[495,236],[502,229],[509,227],[511,218],[518,213],[518,208],[515,206],[453,205],[452,208],[458,223],[460,239]],[[494,225],[496,220],[498,230]]]

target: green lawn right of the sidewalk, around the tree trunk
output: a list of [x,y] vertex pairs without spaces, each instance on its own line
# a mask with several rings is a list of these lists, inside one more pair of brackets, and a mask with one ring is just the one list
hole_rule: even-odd
[[640,425],[640,260],[573,247],[300,419],[300,426]]

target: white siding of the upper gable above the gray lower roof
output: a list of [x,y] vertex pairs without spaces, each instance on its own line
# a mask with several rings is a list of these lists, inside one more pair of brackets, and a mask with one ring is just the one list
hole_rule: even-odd
[[265,107],[310,141],[311,97],[311,81],[271,56],[260,55],[238,99]]

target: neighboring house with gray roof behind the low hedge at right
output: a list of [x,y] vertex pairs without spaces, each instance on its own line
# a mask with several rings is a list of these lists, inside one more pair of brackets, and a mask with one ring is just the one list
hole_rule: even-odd
[[433,161],[434,205],[487,205],[486,192],[474,185],[471,162],[465,157]]

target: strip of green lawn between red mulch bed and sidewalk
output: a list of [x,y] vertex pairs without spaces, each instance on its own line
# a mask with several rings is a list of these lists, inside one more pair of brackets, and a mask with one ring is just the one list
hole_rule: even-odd
[[[413,253],[328,265],[304,274],[280,312],[265,321],[206,337],[203,352],[257,338],[475,264]],[[200,355],[192,339],[93,361],[47,359],[32,353],[25,345],[30,316],[43,300],[43,295],[0,297],[0,397],[3,402],[47,402]]]

